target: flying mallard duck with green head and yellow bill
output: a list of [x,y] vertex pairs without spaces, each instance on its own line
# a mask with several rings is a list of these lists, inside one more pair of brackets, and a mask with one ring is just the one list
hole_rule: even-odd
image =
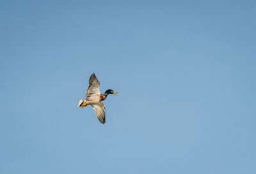
[[102,101],[108,98],[108,94],[116,93],[112,89],[108,89],[104,94],[100,94],[100,82],[93,73],[89,79],[89,87],[86,92],[86,99],[81,99],[78,103],[79,108],[84,108],[88,105],[91,105],[93,110],[95,110],[96,116],[99,121],[104,124],[106,122],[105,119],[105,105]]

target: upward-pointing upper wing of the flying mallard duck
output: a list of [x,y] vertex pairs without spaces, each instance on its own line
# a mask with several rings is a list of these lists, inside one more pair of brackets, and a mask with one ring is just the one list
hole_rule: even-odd
[[88,98],[90,96],[95,96],[97,94],[100,94],[100,82],[93,73],[89,79],[89,87],[86,92],[86,97]]

